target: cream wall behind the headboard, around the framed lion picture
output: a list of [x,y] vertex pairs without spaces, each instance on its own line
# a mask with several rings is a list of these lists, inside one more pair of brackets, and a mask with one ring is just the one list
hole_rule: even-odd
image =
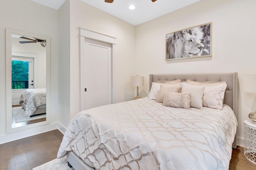
[[[148,74],[238,72],[238,138],[244,120],[256,110],[256,95],[242,91],[242,75],[256,74],[255,0],[202,0],[136,26],[136,70]],[[166,33],[212,21],[212,57],[165,61]],[[155,43],[157,42],[157,43]],[[142,88],[141,88],[142,89]],[[143,91],[143,89],[142,89]],[[144,94],[146,96],[146,93]]]

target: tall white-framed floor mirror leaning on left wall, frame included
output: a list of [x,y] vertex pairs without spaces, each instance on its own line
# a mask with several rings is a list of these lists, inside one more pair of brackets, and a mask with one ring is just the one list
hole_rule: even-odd
[[6,133],[50,123],[50,38],[6,28]]

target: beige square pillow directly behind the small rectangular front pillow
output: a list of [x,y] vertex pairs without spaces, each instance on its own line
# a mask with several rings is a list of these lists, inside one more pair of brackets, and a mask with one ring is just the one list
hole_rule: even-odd
[[181,90],[182,86],[178,86],[175,84],[161,84],[160,85],[160,90],[158,94],[156,95],[156,101],[155,102],[163,102],[164,99],[164,94],[166,92],[176,92],[179,93]]

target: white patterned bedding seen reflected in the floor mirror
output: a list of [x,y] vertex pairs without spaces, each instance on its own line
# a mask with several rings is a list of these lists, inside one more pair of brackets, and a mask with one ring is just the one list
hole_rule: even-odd
[[46,104],[46,88],[24,90],[19,103],[22,104],[22,102],[26,104],[25,114],[32,115],[38,106]]

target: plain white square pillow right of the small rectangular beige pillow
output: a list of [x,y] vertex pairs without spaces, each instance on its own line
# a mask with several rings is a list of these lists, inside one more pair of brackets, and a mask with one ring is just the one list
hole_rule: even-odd
[[205,86],[193,86],[190,84],[185,83],[182,86],[181,92],[182,93],[190,93],[190,107],[203,109],[203,102],[202,98],[204,95],[204,88]]

